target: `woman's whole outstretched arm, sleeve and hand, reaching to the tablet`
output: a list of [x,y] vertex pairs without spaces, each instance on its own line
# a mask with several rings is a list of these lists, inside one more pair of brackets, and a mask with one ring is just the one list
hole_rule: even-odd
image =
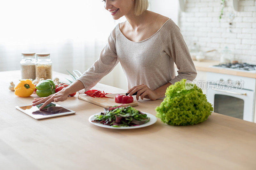
[[44,103],[40,107],[40,109],[42,109],[52,101],[58,102],[67,100],[68,94],[72,94],[82,89],[85,89],[85,91],[91,89],[100,81],[101,78],[113,70],[119,62],[116,54],[115,41],[112,36],[114,32],[115,30],[112,31],[108,37],[107,45],[103,48],[99,59],[91,66],[91,68],[86,70],[75,82],[68,87],[63,88],[60,92],[44,98],[35,98],[34,101],[32,101],[32,105],[36,106],[40,103]]

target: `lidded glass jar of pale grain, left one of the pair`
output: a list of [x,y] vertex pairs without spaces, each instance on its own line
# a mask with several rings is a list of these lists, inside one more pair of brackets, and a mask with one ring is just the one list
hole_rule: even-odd
[[36,78],[36,53],[21,53],[21,79]]

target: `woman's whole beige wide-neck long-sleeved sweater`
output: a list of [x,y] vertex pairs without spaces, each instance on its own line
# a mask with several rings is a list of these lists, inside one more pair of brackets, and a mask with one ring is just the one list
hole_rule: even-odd
[[[99,59],[78,78],[85,91],[95,86],[120,62],[124,70],[128,89],[145,84],[151,90],[183,78],[194,80],[196,68],[180,28],[167,20],[151,37],[140,42],[128,40],[117,25],[110,33],[106,47]],[[174,63],[178,68],[175,76]]]

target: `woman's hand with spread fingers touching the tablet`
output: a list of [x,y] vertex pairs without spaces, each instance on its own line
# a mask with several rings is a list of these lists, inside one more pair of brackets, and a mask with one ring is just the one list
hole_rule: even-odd
[[62,89],[61,91],[54,93],[48,97],[40,97],[40,98],[35,98],[32,101],[32,106],[36,106],[39,105],[41,103],[44,103],[41,107],[39,107],[39,109],[43,109],[45,106],[47,106],[48,104],[50,104],[51,102],[58,102],[58,101],[64,101],[68,99],[68,94],[70,94],[70,92],[68,91],[68,89]]

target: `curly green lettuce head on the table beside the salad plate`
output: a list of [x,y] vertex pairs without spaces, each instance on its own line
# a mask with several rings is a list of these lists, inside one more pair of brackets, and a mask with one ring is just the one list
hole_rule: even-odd
[[156,107],[156,117],[169,125],[194,125],[204,122],[213,111],[205,94],[196,85],[187,90],[186,79],[170,85],[164,101]]

